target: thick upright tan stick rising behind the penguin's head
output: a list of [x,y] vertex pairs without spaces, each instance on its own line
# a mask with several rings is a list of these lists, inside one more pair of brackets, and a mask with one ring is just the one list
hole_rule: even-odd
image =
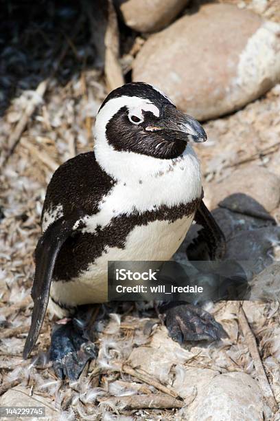
[[119,63],[119,28],[112,0],[108,0],[108,23],[105,33],[104,73],[109,91],[124,85],[124,76]]

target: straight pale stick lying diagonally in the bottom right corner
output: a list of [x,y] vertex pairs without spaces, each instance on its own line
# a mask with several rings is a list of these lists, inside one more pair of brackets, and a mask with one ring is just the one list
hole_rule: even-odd
[[242,305],[240,305],[239,308],[238,321],[240,323],[240,327],[242,328],[244,338],[246,339],[250,355],[253,358],[253,363],[257,371],[257,379],[259,380],[259,386],[264,393],[264,397],[268,403],[268,406],[270,407],[271,411],[275,413],[278,410],[278,404],[270,388],[268,378],[266,377],[266,371],[264,371],[264,366],[262,365],[261,357],[259,356],[259,350],[257,349],[255,336],[250,330],[250,325],[248,324],[248,320]]

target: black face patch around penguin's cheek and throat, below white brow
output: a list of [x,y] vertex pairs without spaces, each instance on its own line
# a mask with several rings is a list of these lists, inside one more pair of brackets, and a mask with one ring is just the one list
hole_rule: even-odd
[[161,125],[164,118],[164,109],[174,105],[161,105],[159,118],[151,111],[143,111],[144,120],[134,125],[128,119],[128,108],[121,107],[106,125],[106,138],[108,144],[116,151],[131,151],[160,159],[173,159],[182,155],[186,147],[185,133],[170,129],[145,131],[146,127]]

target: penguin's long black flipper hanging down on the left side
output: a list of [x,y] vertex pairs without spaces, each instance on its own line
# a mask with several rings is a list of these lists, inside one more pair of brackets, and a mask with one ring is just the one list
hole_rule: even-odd
[[81,216],[76,215],[67,220],[64,218],[57,219],[53,224],[49,225],[38,241],[35,250],[36,269],[31,292],[34,307],[30,331],[23,349],[23,358],[30,356],[45,319],[47,305],[49,303],[51,278],[58,252],[62,244],[73,233],[73,227],[77,224]]

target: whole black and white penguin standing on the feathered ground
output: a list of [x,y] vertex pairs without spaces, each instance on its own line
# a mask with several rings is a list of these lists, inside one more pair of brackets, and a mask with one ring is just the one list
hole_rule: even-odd
[[[156,87],[133,82],[110,92],[94,132],[94,150],[68,160],[51,178],[35,250],[34,308],[23,357],[30,356],[49,308],[68,320],[51,337],[60,377],[78,378],[95,356],[75,315],[107,300],[108,261],[168,261],[194,220],[202,226],[200,251],[221,259],[225,250],[202,200],[200,163],[191,147],[207,140],[199,122]],[[162,313],[177,341],[222,336],[200,307],[172,303]]]

